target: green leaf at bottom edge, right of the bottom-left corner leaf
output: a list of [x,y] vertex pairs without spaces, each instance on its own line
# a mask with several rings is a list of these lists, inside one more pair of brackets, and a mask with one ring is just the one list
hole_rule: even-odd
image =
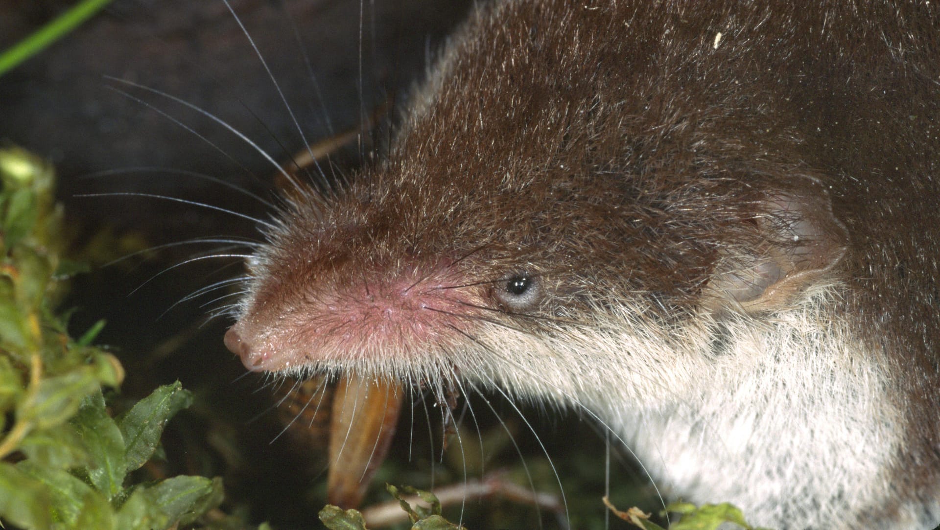
[[[24,460],[16,466],[26,475],[41,482],[49,491],[50,506],[56,521],[76,529],[97,530],[113,527],[111,505],[100,492],[92,490],[82,480],[61,469],[42,466],[29,460]],[[79,521],[94,524],[83,526]]]

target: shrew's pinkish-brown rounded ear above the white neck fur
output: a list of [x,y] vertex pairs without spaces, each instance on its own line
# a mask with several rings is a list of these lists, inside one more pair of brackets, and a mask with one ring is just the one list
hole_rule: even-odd
[[722,250],[706,289],[708,307],[745,313],[784,309],[845,254],[848,234],[823,185],[808,177],[796,183],[764,196],[746,221],[754,237]]

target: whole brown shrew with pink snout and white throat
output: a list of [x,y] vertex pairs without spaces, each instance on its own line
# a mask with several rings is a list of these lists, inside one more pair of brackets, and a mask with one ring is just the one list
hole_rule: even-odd
[[938,13],[479,8],[381,164],[291,194],[227,345],[587,409],[761,525],[930,528]]

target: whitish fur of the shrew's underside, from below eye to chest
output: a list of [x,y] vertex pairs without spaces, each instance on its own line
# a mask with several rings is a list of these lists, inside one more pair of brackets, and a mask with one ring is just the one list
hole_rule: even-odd
[[835,295],[818,288],[769,317],[726,320],[720,348],[708,318],[667,345],[636,327],[641,310],[624,312],[619,329],[633,333],[617,336],[536,344],[494,330],[488,343],[521,356],[482,382],[594,411],[672,498],[731,502],[763,526],[857,528],[848,514],[888,498],[903,414],[877,355],[824,313]]

